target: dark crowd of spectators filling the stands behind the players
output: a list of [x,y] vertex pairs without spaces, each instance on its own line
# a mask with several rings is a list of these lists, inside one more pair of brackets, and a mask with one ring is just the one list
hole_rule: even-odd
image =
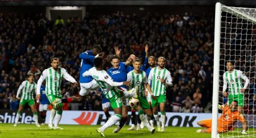
[[[109,55],[114,54],[114,45],[119,46],[122,61],[131,53],[144,61],[145,44],[149,44],[149,55],[164,56],[172,75],[173,86],[166,89],[166,112],[204,112],[213,89],[213,32],[211,14],[138,16],[117,12],[67,21],[51,21],[42,14],[0,14],[0,109],[17,110],[20,83],[30,73],[37,82],[53,57],[78,80],[79,54],[93,44]],[[78,95],[80,88],[63,82],[64,97]],[[100,94],[91,92],[85,103],[72,103],[66,109],[102,110]]]

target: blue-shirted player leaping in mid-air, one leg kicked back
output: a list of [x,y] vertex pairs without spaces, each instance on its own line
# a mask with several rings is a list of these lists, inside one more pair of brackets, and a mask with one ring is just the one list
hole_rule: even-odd
[[94,58],[98,53],[101,53],[101,47],[95,45],[92,47],[92,50],[87,50],[79,55],[81,59],[81,68],[80,68],[80,92],[79,97],[70,97],[62,99],[62,103],[83,103],[86,100],[87,92],[98,89],[99,85],[93,80],[92,76],[83,77],[83,73],[90,68],[94,67]]

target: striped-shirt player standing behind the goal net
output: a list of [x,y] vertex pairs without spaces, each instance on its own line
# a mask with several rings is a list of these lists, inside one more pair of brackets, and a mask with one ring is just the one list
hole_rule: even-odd
[[[226,70],[228,71],[223,74],[223,95],[228,96],[228,104],[234,100],[238,101],[238,110],[243,113],[244,92],[249,85],[249,79],[242,71],[234,70],[233,61],[226,62]],[[245,86],[243,86],[241,78],[245,80]],[[227,84],[229,93],[226,92]]]

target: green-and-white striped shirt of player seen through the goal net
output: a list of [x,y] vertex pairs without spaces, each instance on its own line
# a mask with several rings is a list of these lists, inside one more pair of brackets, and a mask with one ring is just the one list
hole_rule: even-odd
[[[245,80],[245,86],[243,86],[244,82],[242,81],[242,79]],[[242,94],[243,92],[240,92],[240,89],[246,89],[248,87],[249,79],[240,70],[233,70],[231,73],[229,73],[229,71],[226,71],[223,74],[223,91],[226,91],[227,84],[229,94]]]

